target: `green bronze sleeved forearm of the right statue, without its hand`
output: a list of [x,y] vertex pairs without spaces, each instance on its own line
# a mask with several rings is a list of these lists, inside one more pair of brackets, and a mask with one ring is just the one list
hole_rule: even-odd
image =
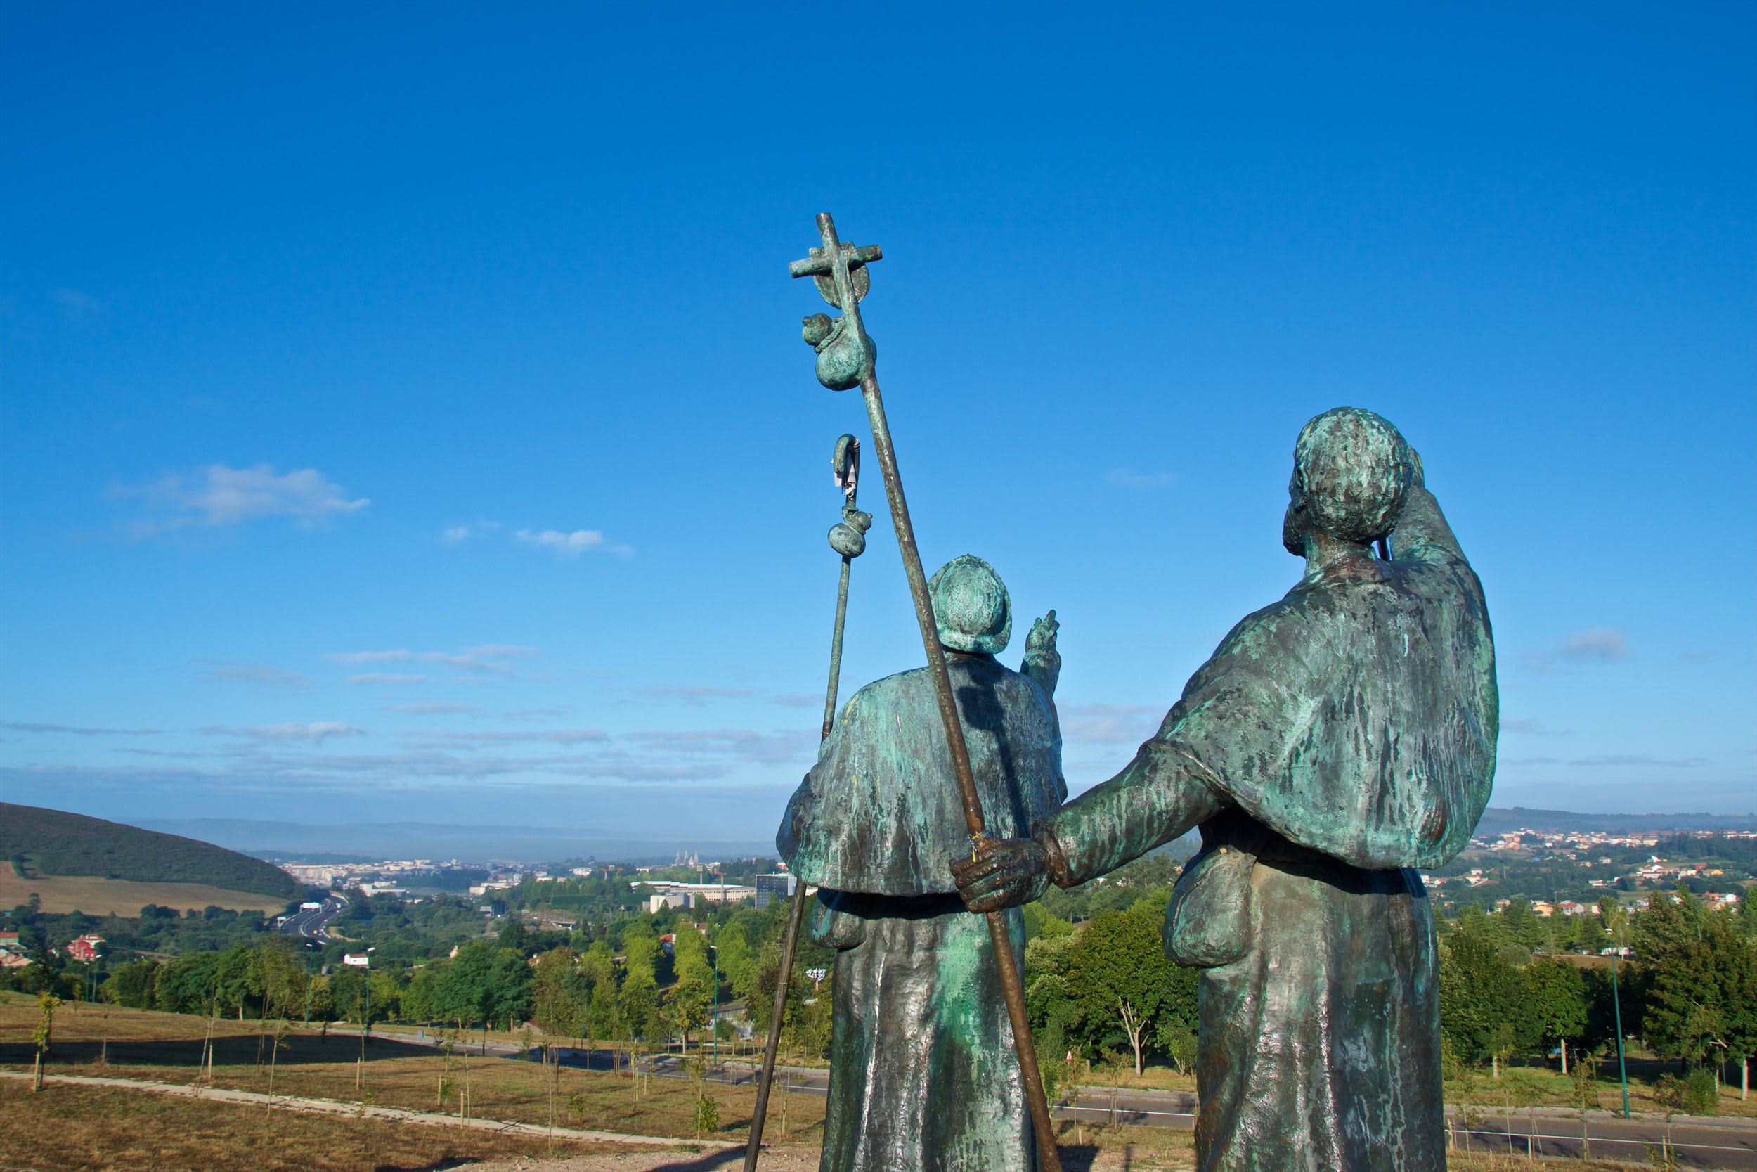
[[1114,872],[1228,805],[1209,771],[1177,745],[1149,740],[1109,782],[1061,807],[1038,833],[1061,887]]

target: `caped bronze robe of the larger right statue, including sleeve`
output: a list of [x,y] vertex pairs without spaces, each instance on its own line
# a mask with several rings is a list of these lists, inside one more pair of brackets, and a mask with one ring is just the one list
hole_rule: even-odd
[[1246,617],[1130,766],[1049,821],[1058,882],[1202,826],[1165,944],[1198,979],[1200,1172],[1442,1172],[1420,875],[1467,842],[1499,699],[1483,589],[1423,488],[1390,561]]

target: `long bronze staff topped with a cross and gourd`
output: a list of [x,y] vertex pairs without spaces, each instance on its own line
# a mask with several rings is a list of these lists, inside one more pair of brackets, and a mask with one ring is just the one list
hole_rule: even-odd
[[[982,803],[977,796],[977,784],[970,768],[970,750],[965,743],[958,703],[952,696],[952,682],[945,668],[945,652],[940,648],[936,634],[933,601],[928,596],[928,578],[921,569],[921,553],[915,548],[915,531],[908,517],[908,501],[903,496],[903,480],[896,466],[896,448],[891,443],[884,397],[878,392],[878,378],[875,374],[877,346],[866,336],[861,322],[859,297],[863,290],[852,276],[852,272],[859,272],[870,283],[871,278],[864,272],[864,267],[878,260],[882,253],[877,246],[856,248],[843,244],[828,213],[819,213],[817,230],[822,248],[812,250],[805,260],[792,262],[789,272],[794,278],[813,278],[813,283],[819,285],[819,293],[824,300],[840,307],[842,316],[829,322],[822,315],[806,318],[803,336],[817,351],[819,381],[831,390],[859,387],[866,401],[866,418],[873,432],[873,452],[878,457],[878,471],[884,476],[886,496],[891,503],[891,522],[903,555],[908,592],[915,603],[921,643],[928,655],[928,676],[933,684],[940,724],[945,729],[945,745],[951,756],[952,775],[958,782],[965,826],[972,843],[980,843],[986,838]],[[829,278],[829,290],[822,286],[821,278]],[[831,292],[835,297],[831,297]],[[1037,1072],[1037,1053],[1031,1047],[1031,1030],[1024,1012],[1024,991],[1019,966],[1012,956],[1012,937],[1007,919],[1000,912],[993,912],[987,917],[987,928],[994,949],[994,968],[1000,977],[1001,996],[1007,1003],[1014,1049],[1019,1058],[1019,1072],[1024,1079],[1026,1102],[1037,1132],[1038,1158],[1045,1170],[1059,1172],[1061,1160],[1056,1151],[1054,1125],[1049,1119],[1049,1103],[1044,1098],[1042,1081]],[[850,1070],[847,1077],[859,1077],[859,1072]]]

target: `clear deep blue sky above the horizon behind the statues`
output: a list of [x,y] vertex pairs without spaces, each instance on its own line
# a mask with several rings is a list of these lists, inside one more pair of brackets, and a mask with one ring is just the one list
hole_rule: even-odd
[[[1293,438],[1423,453],[1497,805],[1745,812],[1743,4],[9,5],[0,792],[116,819],[763,840],[878,242],[929,569],[1054,606],[1074,789],[1246,611]],[[845,691],[921,648],[877,480]]]

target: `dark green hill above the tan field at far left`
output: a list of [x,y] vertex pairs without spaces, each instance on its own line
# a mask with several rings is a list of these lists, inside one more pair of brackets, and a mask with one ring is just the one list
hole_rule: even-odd
[[0,859],[39,875],[209,884],[281,900],[299,894],[292,875],[248,854],[40,807],[0,803]]

